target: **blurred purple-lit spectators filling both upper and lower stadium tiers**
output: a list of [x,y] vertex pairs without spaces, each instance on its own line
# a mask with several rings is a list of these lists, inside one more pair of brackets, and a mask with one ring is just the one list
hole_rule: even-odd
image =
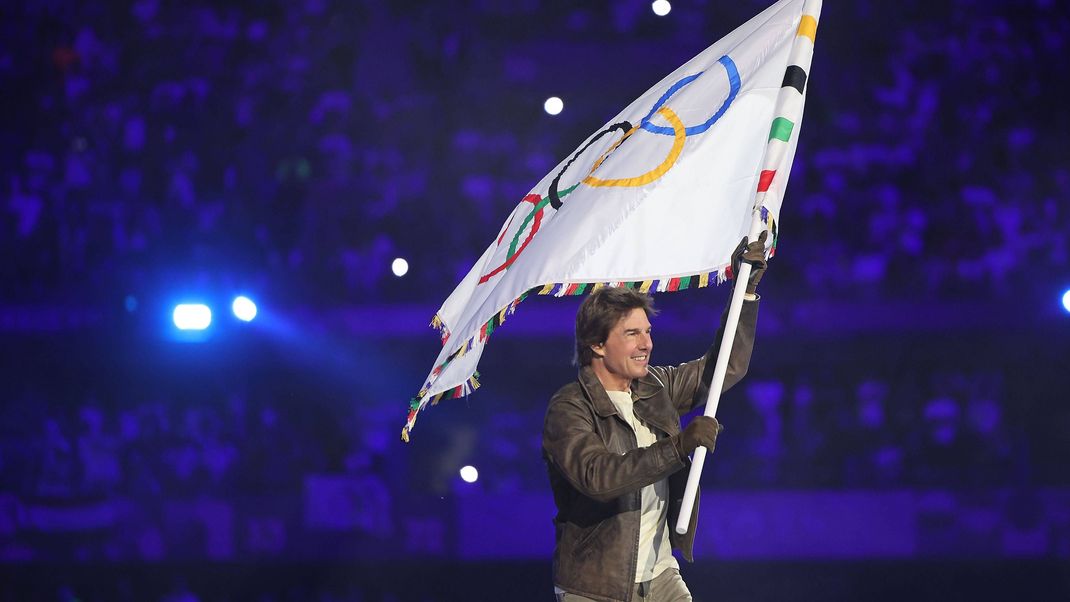
[[[5,6],[0,305],[205,278],[260,282],[280,304],[440,298],[557,160],[767,4],[676,2],[661,20],[638,0]],[[1066,273],[1070,12],[860,0],[827,13],[768,285],[923,305],[1021,297]],[[556,117],[541,108],[551,94]],[[177,393],[4,353],[3,561],[443,555],[448,505],[547,493],[544,383],[469,406],[486,412],[435,411],[399,452],[403,400],[317,389],[317,375]],[[1057,353],[1036,355],[1050,367]],[[519,360],[541,377],[536,355]],[[718,415],[708,487],[1070,485],[1057,371],[877,355],[752,369]],[[1042,514],[1026,494],[1006,508]],[[172,589],[162,599],[200,599]],[[321,589],[260,599],[423,599]]]

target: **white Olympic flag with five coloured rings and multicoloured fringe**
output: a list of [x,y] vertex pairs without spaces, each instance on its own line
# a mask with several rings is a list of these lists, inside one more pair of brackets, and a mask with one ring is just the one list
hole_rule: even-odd
[[755,213],[775,252],[819,13],[820,0],[769,6],[628,105],[517,203],[432,320],[442,352],[410,402],[403,439],[428,403],[478,386],[488,337],[528,295],[722,281]]

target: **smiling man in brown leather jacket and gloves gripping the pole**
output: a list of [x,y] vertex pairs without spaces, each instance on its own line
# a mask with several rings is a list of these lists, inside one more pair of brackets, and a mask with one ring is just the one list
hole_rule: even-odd
[[[753,267],[739,315],[724,389],[750,362],[758,318],[754,293],[765,271],[765,240],[733,253]],[[559,602],[688,601],[672,549],[692,560],[696,499],[687,534],[675,531],[690,465],[700,446],[713,451],[721,427],[706,416],[681,431],[679,417],[706,401],[718,343],[701,359],[649,366],[653,302],[627,288],[592,293],[576,315],[580,373],[550,400],[542,457],[557,506],[553,553]]]

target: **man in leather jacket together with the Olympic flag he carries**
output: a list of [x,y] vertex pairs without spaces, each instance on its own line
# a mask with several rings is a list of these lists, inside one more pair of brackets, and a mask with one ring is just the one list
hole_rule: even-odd
[[[562,599],[690,599],[671,547],[691,559],[720,393],[750,360],[754,287],[777,249],[820,14],[821,0],[778,0],[625,107],[520,200],[431,321],[442,350],[403,441],[426,407],[479,386],[491,334],[528,296],[590,294],[576,322],[579,380],[544,426]],[[646,294],[732,277],[718,352],[648,368]],[[707,418],[682,432],[678,417],[703,399]]]

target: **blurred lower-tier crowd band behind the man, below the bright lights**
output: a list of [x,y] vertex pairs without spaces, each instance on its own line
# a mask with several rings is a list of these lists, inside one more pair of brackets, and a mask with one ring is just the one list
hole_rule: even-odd
[[[1015,408],[999,372],[920,364],[895,377],[801,361],[776,369],[776,377],[748,377],[721,406],[728,430],[710,482],[730,490],[1070,484],[1065,472],[1033,466],[1029,447],[1050,439],[1039,425],[1065,421],[1066,412],[1030,416],[1036,407],[1021,401]],[[253,399],[235,392],[196,401],[163,392],[67,399],[78,397],[73,390],[57,399],[27,389],[0,406],[0,477],[6,493],[39,499],[301,495],[316,475],[374,475],[395,495],[418,496],[468,487],[457,469],[471,463],[483,491],[541,492],[549,392],[520,387],[508,393],[515,399],[476,400],[474,414],[434,411],[419,449],[393,453],[400,411],[386,402],[295,403],[266,387]],[[424,449],[430,456],[413,463],[428,466],[398,480],[400,457]]]

